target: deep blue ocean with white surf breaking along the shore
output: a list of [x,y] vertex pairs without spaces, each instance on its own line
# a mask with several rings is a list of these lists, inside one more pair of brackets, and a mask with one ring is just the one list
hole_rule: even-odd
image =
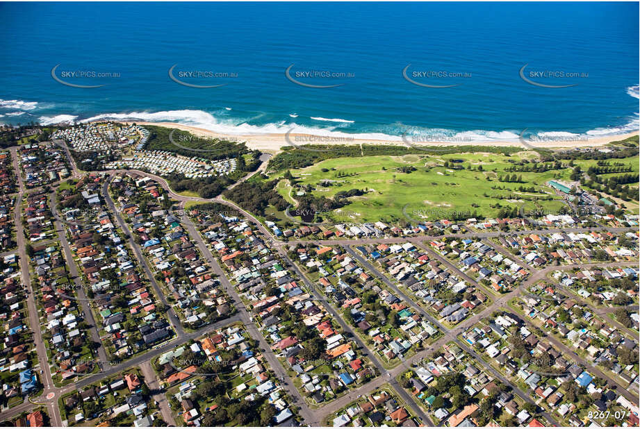
[[[0,3],[0,17],[8,124],[113,117],[389,140],[638,128],[638,3]],[[56,65],[61,81],[104,86],[64,85]],[[174,65],[183,83],[224,85],[181,85]],[[564,87],[527,83],[525,65],[530,81]],[[298,85],[288,67],[340,86]]]

